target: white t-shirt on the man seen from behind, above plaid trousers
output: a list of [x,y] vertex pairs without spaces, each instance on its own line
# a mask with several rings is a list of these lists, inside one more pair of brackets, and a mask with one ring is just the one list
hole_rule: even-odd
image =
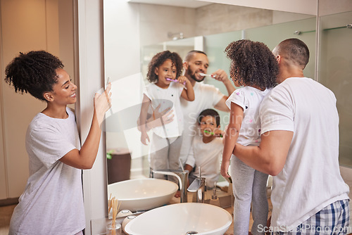
[[273,228],[294,229],[335,201],[348,198],[339,172],[336,98],[322,84],[290,77],[260,106],[261,132],[294,132],[287,160],[273,177]]

